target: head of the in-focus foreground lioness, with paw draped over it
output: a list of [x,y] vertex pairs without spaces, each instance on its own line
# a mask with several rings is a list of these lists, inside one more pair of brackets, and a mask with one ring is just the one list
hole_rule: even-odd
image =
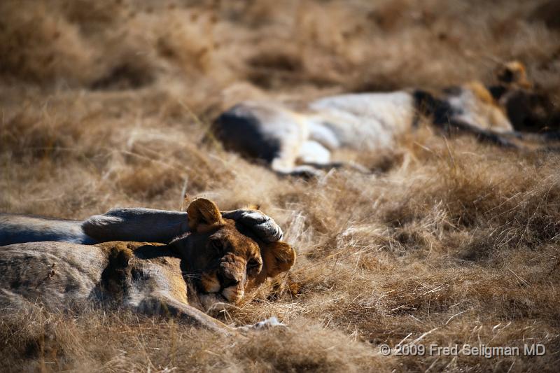
[[190,232],[172,245],[186,260],[188,276],[202,294],[238,302],[246,291],[288,271],[295,261],[288,244],[261,241],[235,220],[224,218],[208,199],[195,199],[187,213]]

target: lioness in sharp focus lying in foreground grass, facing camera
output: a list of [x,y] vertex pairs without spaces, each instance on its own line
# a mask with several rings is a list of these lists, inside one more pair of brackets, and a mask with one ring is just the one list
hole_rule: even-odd
[[238,302],[268,278],[287,272],[295,251],[225,218],[208,199],[195,199],[186,217],[188,232],[167,245],[38,241],[2,246],[0,307],[20,307],[25,300],[48,309],[103,302],[228,330],[201,309],[216,301]]

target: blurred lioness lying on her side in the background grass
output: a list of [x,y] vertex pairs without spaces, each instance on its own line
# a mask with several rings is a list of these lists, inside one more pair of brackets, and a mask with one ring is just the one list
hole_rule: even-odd
[[279,174],[317,174],[335,167],[337,148],[382,150],[409,132],[421,116],[441,129],[475,134],[484,141],[514,146],[516,135],[504,111],[507,92],[528,89],[524,66],[511,62],[497,74],[498,84],[468,83],[442,92],[402,90],[341,94],[288,104],[242,101],[214,122],[226,148],[265,160]]

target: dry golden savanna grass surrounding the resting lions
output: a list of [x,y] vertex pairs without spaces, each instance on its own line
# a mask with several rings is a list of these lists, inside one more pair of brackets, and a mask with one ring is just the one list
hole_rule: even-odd
[[[544,4],[544,5],[543,5]],[[372,175],[279,178],[227,153],[211,119],[245,98],[489,81],[519,59],[560,101],[560,14],[542,1],[0,3],[0,211],[85,218],[114,206],[260,204],[299,253],[290,292],[216,315],[288,328],[238,340],[104,309],[3,311],[1,370],[555,370],[557,153],[430,127]],[[381,356],[395,346],[519,346],[545,356]],[[522,355],[522,353],[521,353]]]

